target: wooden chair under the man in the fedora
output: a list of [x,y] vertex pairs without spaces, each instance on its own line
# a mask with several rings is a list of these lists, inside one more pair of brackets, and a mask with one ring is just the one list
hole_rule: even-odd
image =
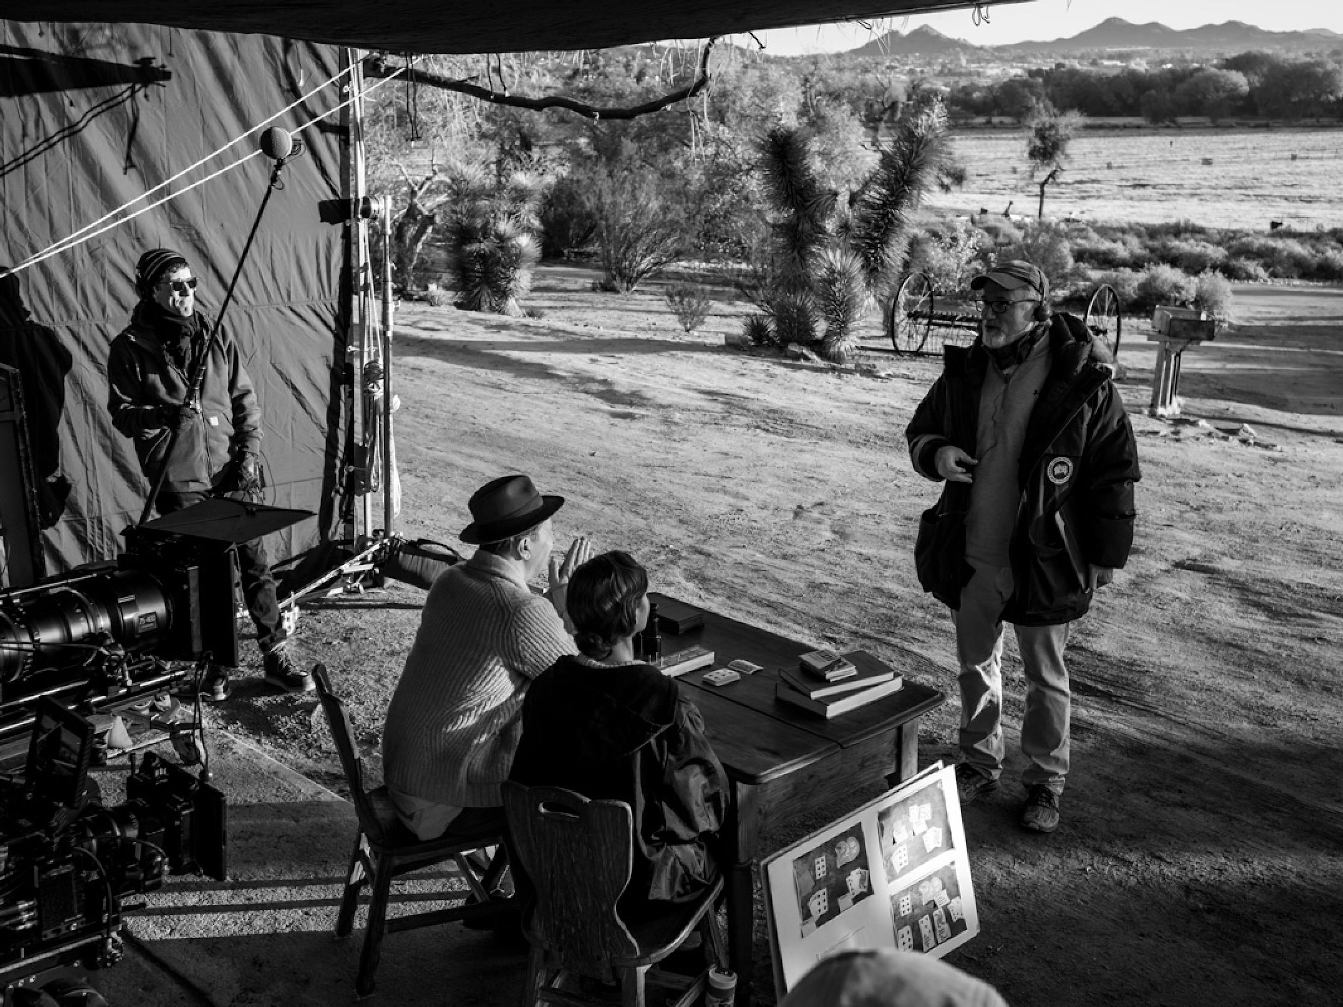
[[[502,830],[473,835],[450,834],[447,838],[428,841],[416,838],[396,816],[396,808],[385,787],[364,789],[364,760],[355,748],[355,729],[345,704],[332,691],[324,665],[313,667],[313,679],[317,682],[317,696],[332,737],[336,740],[341,769],[345,771],[355,814],[359,818],[355,851],[349,857],[345,890],[341,894],[340,912],[336,914],[337,937],[349,936],[364,886],[369,886],[372,892],[364,948],[359,959],[359,976],[355,980],[356,994],[368,996],[373,992],[373,973],[377,971],[385,933],[414,930],[455,920],[473,922],[479,920],[488,924],[490,917],[497,918],[516,906],[516,900],[512,896],[502,898],[494,890],[508,867]],[[496,847],[492,857],[483,854],[486,847]],[[463,904],[427,913],[387,917],[393,878],[446,861],[457,863],[470,888]],[[446,897],[459,896],[451,893]]]

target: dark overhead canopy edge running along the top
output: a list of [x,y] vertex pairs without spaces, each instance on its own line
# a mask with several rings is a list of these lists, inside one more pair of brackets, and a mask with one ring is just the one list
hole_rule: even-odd
[[[1003,0],[1015,3],[1017,0]],[[391,52],[524,52],[702,39],[974,7],[964,0],[8,0],[19,20],[114,20],[257,31]],[[997,3],[995,3],[997,7]]]

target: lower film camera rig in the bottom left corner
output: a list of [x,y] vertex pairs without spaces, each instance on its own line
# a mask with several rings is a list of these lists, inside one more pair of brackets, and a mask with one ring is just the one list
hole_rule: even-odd
[[79,968],[120,960],[122,900],[165,874],[224,879],[223,794],[150,752],[126,777],[126,800],[106,806],[89,775],[94,733],[43,697],[21,775],[0,781],[4,1007],[102,1003]]

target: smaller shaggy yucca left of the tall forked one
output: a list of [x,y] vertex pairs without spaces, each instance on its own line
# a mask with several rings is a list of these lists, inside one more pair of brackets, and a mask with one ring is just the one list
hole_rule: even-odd
[[453,169],[449,187],[449,269],[457,306],[522,314],[517,298],[530,289],[541,258],[540,184],[522,172],[496,183],[483,168],[463,165]]

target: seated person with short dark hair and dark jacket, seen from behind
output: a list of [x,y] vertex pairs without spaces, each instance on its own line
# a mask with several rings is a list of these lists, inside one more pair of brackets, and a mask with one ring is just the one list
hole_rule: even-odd
[[700,712],[676,679],[634,658],[649,619],[649,575],[627,553],[579,567],[567,608],[582,654],[541,673],[522,704],[509,779],[615,799],[634,811],[634,874],[624,916],[693,900],[719,875],[713,847],[728,777]]

